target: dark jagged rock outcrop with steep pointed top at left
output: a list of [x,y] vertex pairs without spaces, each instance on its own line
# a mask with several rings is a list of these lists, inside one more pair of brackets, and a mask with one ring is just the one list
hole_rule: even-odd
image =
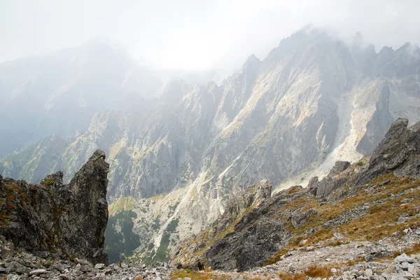
[[62,172],[40,184],[0,175],[0,235],[27,251],[107,262],[108,172],[105,153],[97,150],[67,185]]

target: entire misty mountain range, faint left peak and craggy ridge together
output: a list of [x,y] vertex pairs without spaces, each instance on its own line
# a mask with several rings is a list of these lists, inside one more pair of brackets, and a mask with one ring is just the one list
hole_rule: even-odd
[[0,174],[38,183],[62,170],[68,181],[101,148],[109,201],[134,200],[144,223],[133,231],[156,251],[174,221],[176,243],[258,181],[304,186],[372,152],[397,118],[420,120],[420,49],[375,52],[360,40],[302,29],[219,85],[162,87],[104,45],[0,64],[0,155],[25,147],[0,160]]

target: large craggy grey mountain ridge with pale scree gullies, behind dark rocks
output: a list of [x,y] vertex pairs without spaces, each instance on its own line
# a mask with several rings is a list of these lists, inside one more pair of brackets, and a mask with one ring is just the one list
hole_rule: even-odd
[[96,113],[84,133],[7,155],[0,173],[31,181],[62,169],[69,180],[104,149],[111,207],[137,217],[119,220],[134,221],[144,240],[137,255],[168,258],[262,179],[273,193],[305,186],[337,160],[372,152],[393,120],[420,119],[419,48],[375,52],[357,41],[302,29],[221,85],[174,80],[153,99],[127,98]]

